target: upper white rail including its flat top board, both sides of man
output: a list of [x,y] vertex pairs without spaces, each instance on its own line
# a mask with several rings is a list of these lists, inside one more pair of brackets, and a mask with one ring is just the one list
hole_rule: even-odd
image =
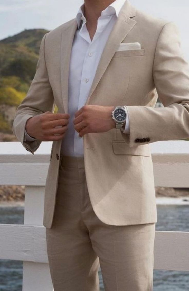
[[[156,187],[189,187],[189,141],[150,143]],[[32,155],[19,142],[0,143],[0,184],[45,186],[52,142]]]

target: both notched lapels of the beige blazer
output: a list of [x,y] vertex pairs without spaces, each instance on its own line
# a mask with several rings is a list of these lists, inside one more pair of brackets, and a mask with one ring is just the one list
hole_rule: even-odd
[[[108,37],[104,50],[102,52],[94,80],[92,82],[90,92],[85,104],[88,104],[92,93],[94,92],[97,84],[103,76],[108,64],[110,63],[113,55],[118,49],[120,43],[127,36],[129,31],[136,24],[131,17],[135,16],[135,7],[131,5],[129,0],[126,0],[122,9],[117,17],[115,25]],[[68,111],[68,78],[69,78],[69,62],[72,50],[74,35],[77,29],[76,18],[62,31],[61,46],[60,46],[60,79],[61,79],[61,102],[65,113]]]

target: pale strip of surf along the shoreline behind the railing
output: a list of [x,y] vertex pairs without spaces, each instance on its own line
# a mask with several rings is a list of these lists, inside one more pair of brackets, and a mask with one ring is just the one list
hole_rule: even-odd
[[[189,197],[156,197],[156,205],[189,205]],[[0,207],[24,207],[24,201],[0,201]]]

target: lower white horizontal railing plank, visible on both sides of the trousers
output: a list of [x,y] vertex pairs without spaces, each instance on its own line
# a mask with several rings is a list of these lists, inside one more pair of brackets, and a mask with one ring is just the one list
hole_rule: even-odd
[[[0,258],[47,263],[44,226],[0,224]],[[189,233],[156,231],[154,269],[189,271]]]

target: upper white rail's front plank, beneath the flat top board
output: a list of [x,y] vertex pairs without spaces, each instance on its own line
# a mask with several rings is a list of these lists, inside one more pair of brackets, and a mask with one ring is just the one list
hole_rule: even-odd
[[[0,164],[0,185],[45,186],[49,164]],[[189,164],[153,163],[155,187],[189,187]]]

